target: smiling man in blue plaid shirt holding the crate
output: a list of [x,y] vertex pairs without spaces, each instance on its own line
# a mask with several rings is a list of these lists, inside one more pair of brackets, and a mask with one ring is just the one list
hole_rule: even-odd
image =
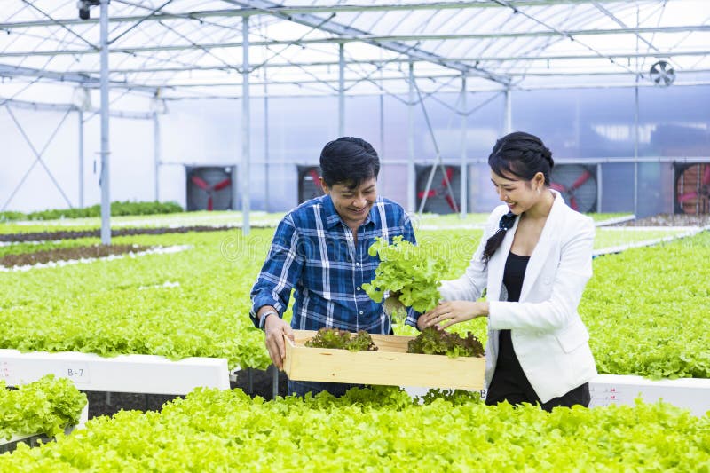
[[[380,160],[375,149],[360,138],[329,142],[320,154],[325,195],[306,201],[284,217],[276,229],[272,248],[251,289],[250,316],[264,329],[273,364],[283,366],[284,335],[293,340],[293,328],[318,330],[336,327],[350,332],[366,330],[390,334],[391,320],[383,304],[372,301],[362,283],[375,279],[379,258],[367,249],[375,237],[402,235],[415,243],[406,212],[397,203],[377,197]],[[294,292],[290,327],[283,312]],[[416,326],[414,312],[406,319]],[[288,382],[288,392],[304,396],[327,390],[343,395],[349,384]]]

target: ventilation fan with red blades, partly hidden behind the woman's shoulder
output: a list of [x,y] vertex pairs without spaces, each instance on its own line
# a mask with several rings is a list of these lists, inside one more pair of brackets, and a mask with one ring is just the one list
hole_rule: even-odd
[[581,164],[559,164],[552,168],[549,186],[562,193],[572,209],[586,213],[596,210],[596,171]]

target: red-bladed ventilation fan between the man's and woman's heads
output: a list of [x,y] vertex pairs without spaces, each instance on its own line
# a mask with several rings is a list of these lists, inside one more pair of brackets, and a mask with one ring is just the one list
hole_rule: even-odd
[[427,182],[432,166],[417,166],[416,170],[416,206],[419,209],[426,196],[424,212],[450,214],[459,211],[456,198],[461,195],[461,167],[437,166],[431,187],[427,192]]

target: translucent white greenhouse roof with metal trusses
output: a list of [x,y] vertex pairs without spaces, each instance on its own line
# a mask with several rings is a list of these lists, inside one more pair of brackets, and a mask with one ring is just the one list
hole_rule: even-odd
[[[4,0],[0,104],[99,88],[92,3]],[[272,96],[710,83],[706,0],[111,0],[108,17],[114,96],[239,98],[245,63]]]

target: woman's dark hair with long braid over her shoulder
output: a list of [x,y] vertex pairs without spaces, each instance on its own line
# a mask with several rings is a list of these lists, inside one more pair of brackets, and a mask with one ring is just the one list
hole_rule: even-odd
[[[515,131],[495,142],[488,165],[493,172],[501,177],[520,177],[526,181],[532,180],[538,172],[545,177],[545,185],[549,185],[549,173],[555,162],[552,152],[542,143],[542,140],[524,131]],[[498,231],[485,241],[483,250],[484,263],[487,265],[495,250],[501,246],[506,231],[515,223],[516,216],[512,212],[501,217]]]

